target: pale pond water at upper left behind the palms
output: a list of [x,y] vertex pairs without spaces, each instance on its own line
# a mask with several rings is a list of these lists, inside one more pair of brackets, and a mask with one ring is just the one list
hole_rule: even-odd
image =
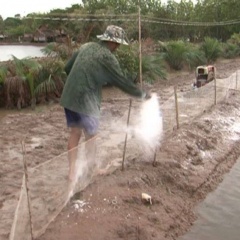
[[0,45],[0,61],[12,59],[12,55],[22,59],[26,57],[42,57],[43,46],[26,46],[26,45]]

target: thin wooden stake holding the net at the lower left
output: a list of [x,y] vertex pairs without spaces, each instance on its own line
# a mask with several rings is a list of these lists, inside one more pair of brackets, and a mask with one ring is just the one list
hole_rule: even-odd
[[23,168],[24,168],[24,175],[25,175],[25,187],[26,187],[26,194],[27,194],[27,201],[28,201],[28,213],[29,213],[29,221],[30,221],[30,232],[31,232],[31,240],[33,240],[34,238],[33,238],[32,213],[31,213],[29,188],[28,188],[27,161],[26,161],[26,158],[25,158],[26,148],[25,148],[25,143],[24,142],[22,142],[22,152],[23,152]]

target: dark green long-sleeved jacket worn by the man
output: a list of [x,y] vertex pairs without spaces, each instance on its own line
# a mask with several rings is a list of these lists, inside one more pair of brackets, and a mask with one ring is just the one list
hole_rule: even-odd
[[68,74],[61,106],[88,116],[100,116],[102,86],[109,83],[136,97],[144,92],[125,78],[119,62],[104,42],[82,45],[65,66]]

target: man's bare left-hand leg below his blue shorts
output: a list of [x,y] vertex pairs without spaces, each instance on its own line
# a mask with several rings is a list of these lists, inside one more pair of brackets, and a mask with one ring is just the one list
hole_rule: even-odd
[[70,129],[70,136],[68,139],[68,161],[69,161],[69,172],[68,179],[70,181],[76,180],[76,161],[78,156],[78,143],[80,141],[82,129],[72,127]]

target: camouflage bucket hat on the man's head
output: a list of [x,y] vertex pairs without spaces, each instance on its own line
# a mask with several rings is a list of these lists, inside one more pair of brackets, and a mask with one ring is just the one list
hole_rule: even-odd
[[128,45],[125,31],[118,26],[110,25],[102,35],[97,35],[97,38],[101,41],[116,42],[124,45]]

